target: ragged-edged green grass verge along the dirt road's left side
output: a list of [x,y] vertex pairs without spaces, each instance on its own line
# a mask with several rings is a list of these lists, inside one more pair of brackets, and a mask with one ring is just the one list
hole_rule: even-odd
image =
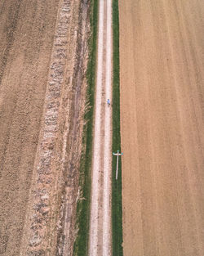
[[91,204],[91,157],[92,157],[92,126],[95,99],[95,64],[96,64],[96,42],[98,26],[98,0],[90,0],[90,24],[91,37],[89,40],[89,62],[86,72],[87,79],[87,102],[89,109],[84,119],[86,124],[83,130],[82,158],[80,163],[79,186],[81,187],[81,198],[77,206],[78,236],[73,246],[73,255],[88,255],[89,218]]

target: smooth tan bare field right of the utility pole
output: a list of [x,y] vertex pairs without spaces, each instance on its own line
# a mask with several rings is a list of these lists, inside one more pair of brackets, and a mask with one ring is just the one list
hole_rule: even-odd
[[204,2],[120,0],[125,256],[204,255]]

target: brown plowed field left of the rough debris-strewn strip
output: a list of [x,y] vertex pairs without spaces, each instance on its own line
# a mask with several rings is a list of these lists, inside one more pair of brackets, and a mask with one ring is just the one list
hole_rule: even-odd
[[0,254],[18,255],[59,0],[0,2]]

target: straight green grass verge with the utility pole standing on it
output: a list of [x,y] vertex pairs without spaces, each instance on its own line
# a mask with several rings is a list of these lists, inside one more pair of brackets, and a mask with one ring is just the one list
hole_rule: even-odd
[[[113,0],[113,152],[121,151],[120,133],[120,65],[119,65],[119,10],[118,0]],[[112,230],[113,256],[122,256],[122,165],[118,164],[115,179],[116,156],[113,156]]]

